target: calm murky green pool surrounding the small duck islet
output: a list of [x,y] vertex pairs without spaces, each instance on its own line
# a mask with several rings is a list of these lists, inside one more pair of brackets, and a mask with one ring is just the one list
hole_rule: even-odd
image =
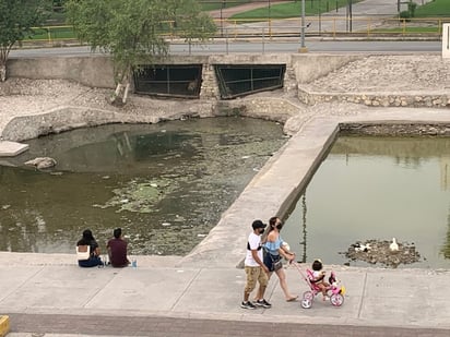
[[308,198],[301,196],[286,220],[283,238],[300,260],[344,264],[340,252],[352,243],[395,237],[422,255],[406,267],[448,268],[449,148],[450,139],[442,137],[341,136],[307,186]]

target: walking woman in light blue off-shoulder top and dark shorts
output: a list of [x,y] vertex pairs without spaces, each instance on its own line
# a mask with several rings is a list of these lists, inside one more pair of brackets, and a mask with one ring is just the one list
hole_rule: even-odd
[[291,294],[287,289],[286,274],[283,268],[274,268],[276,262],[285,257],[287,261],[293,261],[295,254],[291,253],[283,246],[283,239],[280,237],[280,231],[283,228],[283,224],[279,217],[272,217],[269,220],[269,231],[267,233],[267,240],[263,243],[267,254],[264,255],[264,265],[269,268],[269,278],[272,273],[275,272],[280,279],[280,286],[284,292],[284,297],[287,302],[295,301],[296,296]]

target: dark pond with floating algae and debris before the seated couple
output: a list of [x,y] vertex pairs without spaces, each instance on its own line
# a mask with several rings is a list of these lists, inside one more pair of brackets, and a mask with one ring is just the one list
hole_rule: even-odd
[[[121,227],[132,254],[183,255],[286,141],[279,123],[238,117],[31,140],[28,152],[1,160],[0,250],[73,253],[90,228],[105,251]],[[57,166],[23,166],[43,156]]]

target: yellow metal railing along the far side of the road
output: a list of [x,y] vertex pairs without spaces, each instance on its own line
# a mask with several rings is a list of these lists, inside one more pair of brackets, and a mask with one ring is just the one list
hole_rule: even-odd
[[[301,20],[215,20],[217,33],[214,38],[229,40],[241,38],[298,37]],[[400,19],[392,16],[307,16],[305,35],[329,37],[428,37],[439,39],[442,24],[450,23],[450,17]],[[181,35],[173,22],[164,24],[162,32],[168,40]],[[48,46],[76,44],[79,39],[72,26],[45,26],[35,28],[36,34],[27,43],[40,43]]]

